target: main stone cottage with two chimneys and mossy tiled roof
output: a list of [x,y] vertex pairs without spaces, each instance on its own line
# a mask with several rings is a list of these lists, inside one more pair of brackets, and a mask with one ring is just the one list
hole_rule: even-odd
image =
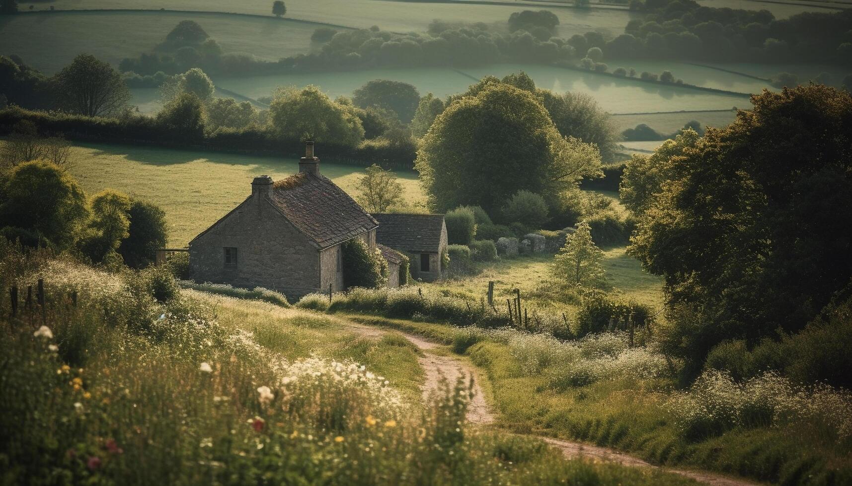
[[245,201],[193,238],[189,266],[199,282],[260,286],[290,298],[327,292],[330,284],[339,291],[341,243],[359,237],[374,249],[377,226],[352,197],[320,174],[320,160],[308,142],[298,174],[279,181],[256,177]]

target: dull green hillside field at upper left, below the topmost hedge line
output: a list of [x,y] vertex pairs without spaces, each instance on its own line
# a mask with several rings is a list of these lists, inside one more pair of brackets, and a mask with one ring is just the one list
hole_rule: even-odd
[[310,39],[317,26],[273,17],[55,12],[0,16],[0,54],[18,54],[27,64],[48,74],[59,71],[81,52],[118,65],[125,57],[152,50],[178,22],[187,19],[198,22],[226,53],[245,52],[263,60],[279,60],[317,47]]

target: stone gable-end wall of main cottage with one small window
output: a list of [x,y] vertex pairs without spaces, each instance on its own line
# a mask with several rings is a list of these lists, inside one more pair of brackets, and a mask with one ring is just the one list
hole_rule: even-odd
[[[225,248],[237,249],[237,265],[225,266]],[[308,238],[273,208],[252,196],[189,246],[197,282],[278,289],[288,297],[320,286],[320,254]],[[327,288],[327,285],[326,285]]]

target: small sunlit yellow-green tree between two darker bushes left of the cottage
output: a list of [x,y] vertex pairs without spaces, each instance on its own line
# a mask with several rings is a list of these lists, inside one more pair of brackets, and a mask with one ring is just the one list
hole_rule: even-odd
[[107,189],[92,197],[91,219],[81,242],[83,254],[95,263],[114,253],[122,240],[130,236],[130,197]]

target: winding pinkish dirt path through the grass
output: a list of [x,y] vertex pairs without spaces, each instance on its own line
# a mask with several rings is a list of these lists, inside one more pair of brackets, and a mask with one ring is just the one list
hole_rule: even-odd
[[[366,324],[353,323],[346,321],[349,329],[354,330],[358,334],[380,338],[384,334],[390,332],[388,329],[368,326]],[[429,397],[429,393],[433,392],[440,384],[441,376],[446,377],[451,383],[458,379],[459,375],[466,377],[476,376],[475,369],[468,363],[452,357],[443,356],[435,353],[435,348],[440,345],[432,341],[425,340],[416,334],[408,334],[399,330],[393,332],[402,334],[405,338],[412,342],[423,351],[423,356],[419,357],[420,366],[423,367],[423,372],[426,375],[426,381],[423,384],[423,397]],[[474,397],[468,406],[468,420],[475,424],[490,424],[494,421],[494,414],[485,397],[482,393],[482,388],[477,380],[474,380]],[[641,460],[632,455],[626,455],[614,449],[607,449],[588,443],[579,443],[567,440],[556,439],[553,437],[534,436],[538,437],[546,443],[549,443],[556,449],[560,449],[562,454],[568,459],[578,457],[592,458],[596,460],[607,460],[617,462],[623,466],[631,467],[653,467],[654,466],[644,460]],[[674,472],[682,476],[691,477],[700,483],[711,484],[712,486],[757,486],[757,483],[746,481],[736,477],[727,477],[713,472],[689,471],[684,469],[669,469],[665,468],[666,472]]]

